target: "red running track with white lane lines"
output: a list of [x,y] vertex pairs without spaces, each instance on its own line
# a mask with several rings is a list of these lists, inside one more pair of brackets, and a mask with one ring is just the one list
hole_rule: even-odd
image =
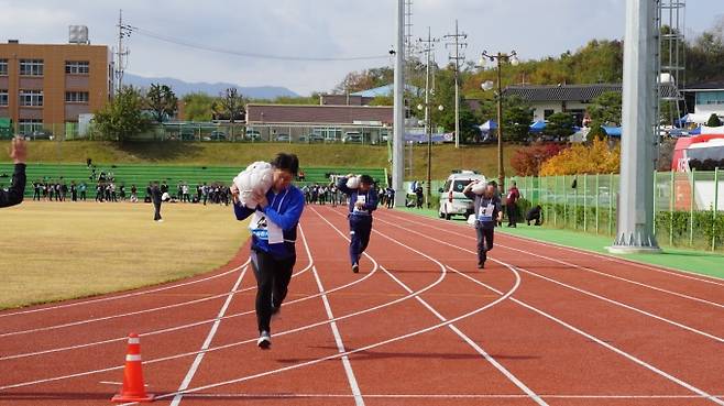
[[249,246],[175,284],[0,312],[0,405],[105,405],[142,337],[164,405],[724,405],[724,281],[381,209],[309,206],[273,347]]

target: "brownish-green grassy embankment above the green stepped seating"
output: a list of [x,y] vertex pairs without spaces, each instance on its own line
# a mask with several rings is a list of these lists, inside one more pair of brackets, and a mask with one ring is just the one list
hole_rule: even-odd
[[[506,163],[517,147],[505,147]],[[0,162],[8,161],[4,152],[8,149],[7,141],[0,142]],[[297,154],[303,167],[390,167],[386,146],[284,143],[144,142],[121,145],[100,141],[33,141],[29,143],[29,162],[85,164],[86,158],[90,157],[98,164],[242,166],[254,161],[268,161],[282,151]],[[415,145],[413,156],[414,174],[409,176],[406,172],[405,176],[408,180],[425,179],[427,145]],[[434,179],[445,179],[451,169],[460,168],[497,174],[495,145],[463,146],[458,150],[454,145],[432,147]],[[509,165],[506,166],[506,173],[513,175]]]

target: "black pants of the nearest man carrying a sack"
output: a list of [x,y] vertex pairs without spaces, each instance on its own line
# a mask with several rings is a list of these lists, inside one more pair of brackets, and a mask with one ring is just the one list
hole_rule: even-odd
[[259,332],[272,331],[272,307],[279,307],[286,298],[292,270],[297,255],[279,260],[271,254],[252,250],[251,265],[256,276],[256,323]]

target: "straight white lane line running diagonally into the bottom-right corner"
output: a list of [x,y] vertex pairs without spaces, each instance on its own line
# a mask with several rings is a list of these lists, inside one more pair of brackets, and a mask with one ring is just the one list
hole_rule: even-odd
[[[495,261],[495,262],[497,262],[497,263],[501,263],[501,262],[497,261],[497,260],[493,260],[493,261]],[[501,264],[503,264],[503,263],[501,263]],[[480,282],[480,281],[478,281],[478,279],[475,279],[475,278],[472,277],[472,276],[465,275],[465,273],[460,272],[460,271],[453,268],[452,266],[449,266],[449,265],[448,265],[448,268],[449,268],[450,271],[452,271],[452,272],[454,272],[454,273],[457,273],[457,274],[459,274],[459,275],[461,275],[461,276],[463,276],[463,277],[470,279],[471,282],[473,282],[473,283],[475,283],[475,284],[478,284],[478,285],[481,285],[481,286],[487,288],[487,289],[491,290],[491,292],[494,292],[494,293],[496,293],[496,294],[498,294],[498,295],[502,294],[501,290],[498,290],[498,289],[496,289],[496,288],[494,288],[494,287],[492,287],[492,286],[490,286],[490,285],[487,285],[487,284],[484,284],[484,283],[482,283],[482,282]],[[572,325],[569,325],[568,322],[566,322],[566,321],[563,321],[563,320],[561,320],[561,319],[559,319],[559,318],[557,318],[557,317],[555,317],[555,316],[552,316],[552,315],[550,315],[550,314],[544,311],[544,310],[540,310],[540,309],[538,309],[538,308],[536,308],[536,307],[534,307],[534,306],[530,306],[530,305],[528,305],[528,304],[526,304],[526,303],[524,303],[524,301],[522,301],[522,300],[518,300],[518,299],[516,299],[515,297],[511,297],[511,300],[514,301],[514,303],[516,303],[516,304],[518,304],[518,305],[520,305],[520,306],[523,306],[523,307],[525,307],[525,308],[528,309],[528,310],[531,310],[531,311],[534,311],[534,312],[536,312],[536,314],[538,314],[538,315],[540,315],[540,316],[542,316],[542,317],[545,317],[545,318],[547,318],[547,319],[549,319],[549,320],[551,320],[551,321],[555,321],[555,322],[557,322],[557,323],[559,323],[559,325],[561,325],[561,326],[563,326],[563,327],[566,327],[567,329],[569,329],[569,330],[571,330],[571,331],[573,331],[573,332],[575,332],[575,333],[578,333],[578,334],[580,334],[580,336],[583,336],[583,337],[588,338],[589,340],[592,340],[592,341],[596,342],[597,344],[600,344],[600,345],[602,345],[602,347],[604,347],[604,348],[606,348],[606,349],[608,349],[608,350],[611,350],[611,351],[617,353],[618,355],[624,356],[625,359],[627,359],[627,360],[629,360],[629,361],[632,361],[632,362],[634,362],[634,363],[636,363],[636,364],[638,364],[638,365],[640,365],[640,366],[643,366],[643,367],[645,367],[645,369],[647,369],[647,370],[649,370],[649,371],[656,373],[657,375],[660,375],[660,376],[662,376],[662,377],[665,377],[665,378],[667,378],[667,380],[673,382],[674,384],[677,384],[677,385],[679,385],[679,386],[682,386],[682,387],[684,387],[684,388],[687,388],[687,389],[689,389],[689,391],[691,391],[691,392],[698,394],[699,396],[701,396],[701,397],[703,397],[703,398],[705,398],[705,399],[707,399],[707,400],[712,400],[712,402],[714,402],[714,403],[716,403],[716,404],[718,404],[718,405],[723,405],[723,406],[724,406],[724,400],[721,400],[721,399],[716,398],[716,396],[711,395],[711,394],[704,392],[703,389],[700,389],[699,387],[696,387],[696,386],[694,386],[694,385],[692,385],[692,384],[690,384],[690,383],[688,383],[688,382],[684,382],[684,381],[682,381],[682,380],[680,380],[680,378],[678,378],[678,377],[676,377],[676,376],[673,376],[673,375],[671,375],[671,374],[669,374],[669,373],[667,373],[667,372],[663,372],[663,371],[659,370],[658,367],[656,367],[656,366],[649,364],[648,362],[646,362],[646,361],[644,361],[644,360],[641,360],[641,359],[639,359],[639,358],[636,358],[636,356],[634,356],[634,355],[627,353],[626,351],[623,351],[623,350],[618,349],[617,347],[614,347],[614,345],[612,345],[612,344],[610,344],[610,343],[607,343],[607,342],[601,340],[600,338],[597,338],[597,337],[595,337],[595,336],[593,336],[593,334],[590,334],[590,333],[588,333],[588,332],[585,332],[585,331],[579,329],[578,327],[574,327],[574,326],[572,326]]]

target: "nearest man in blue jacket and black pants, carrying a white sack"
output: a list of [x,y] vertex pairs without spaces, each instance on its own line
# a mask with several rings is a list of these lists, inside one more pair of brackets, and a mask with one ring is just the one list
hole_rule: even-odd
[[304,210],[304,194],[292,185],[299,171],[296,155],[276,155],[271,168],[254,165],[234,179],[231,195],[237,220],[253,215],[249,228],[252,232],[251,264],[257,286],[256,344],[268,349],[272,344],[271,319],[282,307],[297,261],[295,242]]

